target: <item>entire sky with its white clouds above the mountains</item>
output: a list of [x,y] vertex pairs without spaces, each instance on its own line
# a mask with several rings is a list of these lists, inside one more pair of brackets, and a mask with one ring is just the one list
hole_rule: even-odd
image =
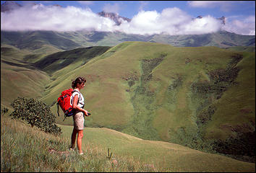
[[[199,35],[226,30],[239,35],[255,35],[255,1],[16,2],[23,7],[1,12],[1,30],[95,30],[140,35]],[[132,20],[115,25],[111,19],[97,15],[102,11]],[[226,17],[225,25],[217,19],[220,17]]]

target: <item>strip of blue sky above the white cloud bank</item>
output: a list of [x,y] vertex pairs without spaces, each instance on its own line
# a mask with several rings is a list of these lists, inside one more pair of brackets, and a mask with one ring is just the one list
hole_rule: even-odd
[[[1,1],[1,4],[4,1]],[[184,12],[197,17],[212,15],[213,17],[246,17],[255,16],[255,1],[16,1],[19,4],[40,3],[44,5],[59,4],[90,8],[93,12],[108,10],[122,17],[132,19],[140,10],[161,12],[166,8],[178,7]]]

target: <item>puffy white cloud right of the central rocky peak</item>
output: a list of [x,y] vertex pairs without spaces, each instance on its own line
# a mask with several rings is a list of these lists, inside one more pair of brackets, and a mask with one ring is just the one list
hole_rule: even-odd
[[129,34],[205,34],[220,30],[221,22],[213,17],[192,19],[187,13],[175,7],[163,9],[161,13],[141,11],[131,22],[123,23],[119,28]]

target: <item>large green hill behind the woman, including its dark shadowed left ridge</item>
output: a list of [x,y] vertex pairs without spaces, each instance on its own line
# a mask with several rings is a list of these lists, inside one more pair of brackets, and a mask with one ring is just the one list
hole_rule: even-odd
[[[46,74],[40,100],[54,113],[61,92],[84,76],[85,108],[92,113],[87,127],[255,159],[255,52],[145,42],[99,49],[69,50],[30,63]],[[1,80],[12,79],[4,76]],[[21,86],[30,86],[25,81]],[[72,118],[57,117],[57,123],[72,125]]]

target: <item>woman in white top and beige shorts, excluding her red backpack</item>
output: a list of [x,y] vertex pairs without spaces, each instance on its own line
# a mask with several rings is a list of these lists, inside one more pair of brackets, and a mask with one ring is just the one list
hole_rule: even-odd
[[[70,150],[74,150],[74,143],[77,137],[77,147],[79,150],[79,154],[82,153],[82,137],[83,137],[83,129],[84,129],[84,122],[85,116],[89,116],[89,112],[84,110],[85,99],[80,93],[80,89],[85,86],[86,80],[82,77],[78,77],[74,81],[72,81],[72,88],[74,92],[71,97],[71,104],[74,110],[73,120],[74,120],[74,128],[71,136],[71,148]],[[78,135],[77,135],[78,134]]]

